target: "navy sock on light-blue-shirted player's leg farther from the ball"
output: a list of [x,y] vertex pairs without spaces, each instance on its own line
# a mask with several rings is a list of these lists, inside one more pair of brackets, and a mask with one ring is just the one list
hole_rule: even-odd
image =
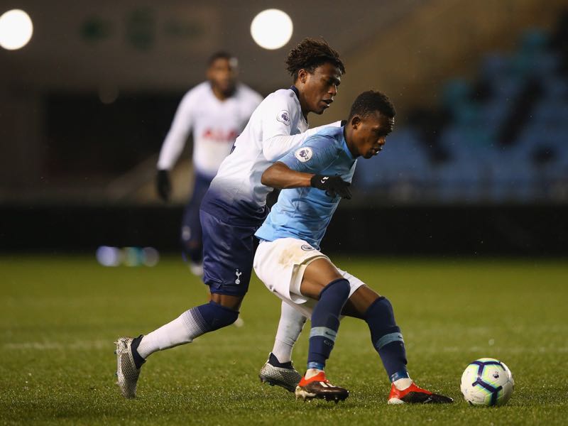
[[325,361],[332,353],[339,329],[339,315],[349,298],[349,289],[349,281],[339,278],[326,285],[320,293],[320,300],[312,312],[310,349],[307,356],[308,369],[324,369]]

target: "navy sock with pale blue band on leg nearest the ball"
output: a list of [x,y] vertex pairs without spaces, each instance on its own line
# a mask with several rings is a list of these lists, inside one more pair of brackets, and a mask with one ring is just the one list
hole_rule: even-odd
[[406,350],[403,335],[396,325],[393,305],[386,297],[378,297],[365,312],[373,346],[381,356],[388,378],[406,378]]

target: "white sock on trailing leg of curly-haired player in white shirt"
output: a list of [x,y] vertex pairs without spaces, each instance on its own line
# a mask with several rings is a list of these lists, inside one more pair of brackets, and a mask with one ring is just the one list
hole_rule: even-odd
[[207,331],[200,312],[197,307],[193,307],[183,312],[172,322],[168,322],[168,324],[142,337],[138,345],[138,354],[146,359],[155,351],[190,343]]

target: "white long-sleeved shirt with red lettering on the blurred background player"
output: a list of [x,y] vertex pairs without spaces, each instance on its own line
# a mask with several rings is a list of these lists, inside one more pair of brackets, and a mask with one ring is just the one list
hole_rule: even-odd
[[213,178],[261,101],[261,95],[245,84],[237,84],[233,96],[224,101],[215,97],[209,82],[198,84],[185,94],[175,112],[160,151],[158,169],[173,168],[193,130],[194,168]]

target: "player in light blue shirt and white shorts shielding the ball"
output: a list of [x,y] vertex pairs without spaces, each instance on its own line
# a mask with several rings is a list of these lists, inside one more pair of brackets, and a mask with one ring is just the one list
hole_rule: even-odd
[[403,335],[391,302],[336,268],[320,252],[320,241],[339,201],[351,197],[356,159],[381,151],[393,130],[394,116],[384,94],[364,92],[356,98],[344,127],[310,136],[262,175],[264,185],[283,191],[255,234],[261,239],[253,263],[256,275],[271,292],[312,320],[307,371],[296,387],[297,398],[337,402],[349,395],[329,383],[324,372],[340,316],[349,315],[368,324],[373,346],[392,382],[388,403],[452,402],[410,379]]

